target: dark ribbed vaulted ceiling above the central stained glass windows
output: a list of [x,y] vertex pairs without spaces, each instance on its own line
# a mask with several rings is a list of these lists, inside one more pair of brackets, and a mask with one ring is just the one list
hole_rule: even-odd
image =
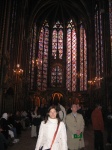
[[69,19],[89,21],[92,11],[92,0],[31,0],[29,3],[30,22]]

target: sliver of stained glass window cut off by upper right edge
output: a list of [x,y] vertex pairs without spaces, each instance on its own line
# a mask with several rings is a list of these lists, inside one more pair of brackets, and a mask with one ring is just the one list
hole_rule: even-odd
[[111,67],[112,67],[112,0],[109,0],[109,20],[110,20],[110,42],[111,42]]

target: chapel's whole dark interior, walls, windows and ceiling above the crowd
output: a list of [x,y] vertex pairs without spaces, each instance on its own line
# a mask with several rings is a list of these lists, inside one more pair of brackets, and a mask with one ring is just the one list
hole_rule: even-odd
[[0,113],[112,105],[111,0],[1,0],[0,16]]

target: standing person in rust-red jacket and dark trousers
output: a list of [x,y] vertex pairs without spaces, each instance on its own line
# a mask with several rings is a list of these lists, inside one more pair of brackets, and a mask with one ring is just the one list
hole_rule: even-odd
[[92,112],[91,119],[94,130],[94,147],[96,150],[104,150],[103,146],[103,131],[104,122],[100,104],[96,104]]

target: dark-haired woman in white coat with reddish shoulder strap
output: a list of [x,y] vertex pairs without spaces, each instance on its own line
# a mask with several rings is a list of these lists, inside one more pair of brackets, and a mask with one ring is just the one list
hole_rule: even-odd
[[[56,130],[57,134],[54,136]],[[41,147],[43,147],[42,150],[50,148],[51,150],[67,150],[66,128],[64,123],[60,121],[55,106],[49,108],[45,120],[41,122],[35,150],[39,150]]]

